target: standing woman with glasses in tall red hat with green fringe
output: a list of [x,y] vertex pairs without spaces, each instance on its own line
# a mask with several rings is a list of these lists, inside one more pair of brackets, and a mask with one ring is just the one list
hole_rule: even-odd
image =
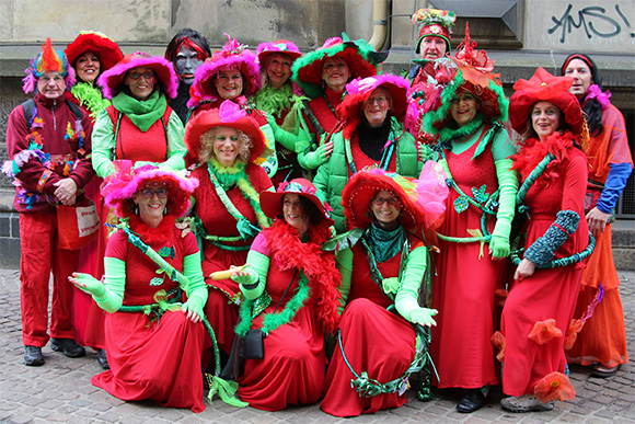
[[495,291],[503,285],[517,192],[510,171],[516,152],[505,129],[507,99],[494,61],[465,39],[452,61],[424,88],[424,130],[438,137],[450,196],[439,227],[438,276],[432,307],[442,311],[432,329],[430,353],[439,389],[461,388],[461,413],[485,404],[498,385],[490,339],[495,332]]

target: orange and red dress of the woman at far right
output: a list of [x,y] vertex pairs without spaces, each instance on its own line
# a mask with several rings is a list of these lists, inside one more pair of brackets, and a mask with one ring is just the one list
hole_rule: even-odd
[[[602,111],[604,129],[591,137],[587,158],[589,160],[589,179],[604,184],[611,164],[630,163],[633,167],[624,116],[612,104]],[[594,207],[601,190],[587,187],[587,197],[592,198],[589,209]],[[585,314],[593,301],[600,284],[604,287],[604,297],[596,307],[593,316],[585,322],[574,346],[566,352],[569,363],[581,365],[603,364],[613,367],[628,363],[626,353],[626,332],[624,329],[624,309],[620,299],[620,277],[613,262],[612,225],[607,225],[603,232],[596,237],[596,250],[589,257],[582,286],[578,295],[575,318]]]

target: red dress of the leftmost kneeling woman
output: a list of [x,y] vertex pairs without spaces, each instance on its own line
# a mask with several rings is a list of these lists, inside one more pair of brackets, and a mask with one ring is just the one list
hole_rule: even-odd
[[[193,233],[181,238],[181,230],[173,231],[173,242],[150,247],[159,251],[172,244],[174,259],[166,260],[183,272],[183,257],[196,253],[198,245]],[[168,277],[152,285],[157,264],[128,242],[123,231],[108,240],[106,256],[126,263],[124,306],[154,303],[158,290],[178,287]],[[143,312],[115,312],[106,313],[104,330],[111,369],[94,376],[94,386],[126,401],[149,399],[162,406],[205,410],[200,358],[207,335],[203,323],[192,322],[181,310],[165,312],[159,320]]]

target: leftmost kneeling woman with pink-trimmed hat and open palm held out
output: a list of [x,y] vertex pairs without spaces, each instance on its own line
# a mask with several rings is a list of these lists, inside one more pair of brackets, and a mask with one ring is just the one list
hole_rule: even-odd
[[[69,277],[109,312],[111,369],[92,383],[122,400],[203,412],[200,319],[207,288],[196,238],[174,226],[198,181],[152,165],[131,171],[130,161],[115,163],[122,169],[106,180],[103,194],[123,224],[106,247],[105,282],[80,273]],[[180,303],[183,293],[187,301]]]

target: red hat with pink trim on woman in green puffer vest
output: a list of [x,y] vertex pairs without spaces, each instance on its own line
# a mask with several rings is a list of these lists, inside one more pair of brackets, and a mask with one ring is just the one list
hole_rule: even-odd
[[[385,89],[392,96],[391,114],[401,123],[404,122],[409,104],[409,83],[403,77],[384,73],[381,76],[355,79],[346,85],[346,96],[337,106],[338,116],[346,122],[345,128],[357,127],[361,119],[363,102],[379,88]],[[348,133],[348,131],[347,131]],[[345,137],[348,135],[345,134]]]

